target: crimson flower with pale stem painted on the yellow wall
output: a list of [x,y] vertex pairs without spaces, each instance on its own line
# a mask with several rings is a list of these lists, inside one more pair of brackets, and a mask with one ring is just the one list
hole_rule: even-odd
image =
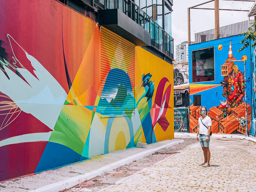
[[[151,130],[152,135],[155,129],[155,125],[157,123],[161,126],[163,131],[166,131],[170,125],[169,121],[165,117],[165,114],[167,112],[167,109],[171,108],[169,106],[169,101],[170,101],[172,84],[169,84],[165,92],[163,92],[167,82],[169,83],[169,80],[167,78],[162,78],[158,84],[157,92],[155,94],[155,102],[153,105],[153,115],[152,115],[152,130]],[[152,136],[152,139],[153,139],[153,136]]]

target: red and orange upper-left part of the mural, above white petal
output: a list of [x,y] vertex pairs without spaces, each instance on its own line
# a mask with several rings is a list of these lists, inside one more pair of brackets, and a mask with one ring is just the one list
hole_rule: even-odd
[[[45,14],[49,11],[50,14]],[[7,34],[10,34],[28,54],[34,56],[44,65],[47,71],[68,93],[67,79],[63,75],[65,74],[65,66],[61,36],[62,20],[64,23],[65,55],[72,82],[90,42],[89,39],[91,39],[94,32],[94,30],[89,29],[95,29],[96,23],[86,22],[88,18],[80,14],[74,14],[74,10],[57,1],[29,1],[29,3],[3,1],[1,2],[0,12],[2,27],[0,40],[5,42],[1,45],[5,52],[9,55],[12,54],[7,38]],[[76,22],[72,22],[73,20]],[[77,33],[78,27],[80,29],[79,33]],[[33,68],[29,65],[30,63],[27,64],[27,58],[22,53],[23,51],[18,50],[18,48],[15,49],[15,55],[19,57],[20,63],[24,63],[24,67],[31,72]],[[13,63],[15,60],[8,57],[8,62]],[[56,63],[58,64],[56,65]]]

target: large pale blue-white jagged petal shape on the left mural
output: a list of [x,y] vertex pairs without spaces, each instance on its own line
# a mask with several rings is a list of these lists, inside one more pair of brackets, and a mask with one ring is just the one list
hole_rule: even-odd
[[31,61],[38,79],[27,69],[17,68],[26,79],[27,82],[25,82],[4,66],[10,80],[0,72],[0,91],[8,95],[22,111],[32,114],[53,129],[67,93],[39,61],[27,53],[26,56]]

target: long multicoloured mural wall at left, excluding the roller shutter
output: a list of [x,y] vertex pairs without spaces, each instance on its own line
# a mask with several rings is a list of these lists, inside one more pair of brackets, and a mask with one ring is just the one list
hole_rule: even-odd
[[[130,101],[141,97],[138,105],[147,105],[150,114],[144,116],[143,108],[135,105],[133,116],[102,118],[101,87],[120,67],[109,68],[101,79],[97,23],[55,0],[1,1],[0,23],[0,180],[135,147],[146,142],[144,128],[153,130],[151,142],[173,139],[171,65],[136,48],[135,82],[146,89],[142,76],[150,73],[156,90],[144,95],[152,97],[152,105],[143,91],[131,93]],[[162,71],[162,66],[169,70]],[[123,74],[129,79],[129,73]],[[121,80],[115,83],[121,86]],[[134,90],[134,85],[128,83],[127,89]],[[110,95],[113,100],[117,96],[118,91]],[[122,109],[110,107],[126,109],[125,103]],[[145,118],[153,123],[144,125]]]

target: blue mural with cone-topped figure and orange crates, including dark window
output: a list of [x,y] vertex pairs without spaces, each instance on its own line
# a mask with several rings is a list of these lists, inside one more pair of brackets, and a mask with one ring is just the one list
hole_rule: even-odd
[[[251,132],[250,49],[238,53],[241,37],[233,36],[191,46],[190,132],[196,132],[200,106],[212,119],[212,133],[245,134],[245,91],[247,91],[248,132]],[[199,48],[200,46],[200,48]],[[245,90],[245,80],[246,87]]]

